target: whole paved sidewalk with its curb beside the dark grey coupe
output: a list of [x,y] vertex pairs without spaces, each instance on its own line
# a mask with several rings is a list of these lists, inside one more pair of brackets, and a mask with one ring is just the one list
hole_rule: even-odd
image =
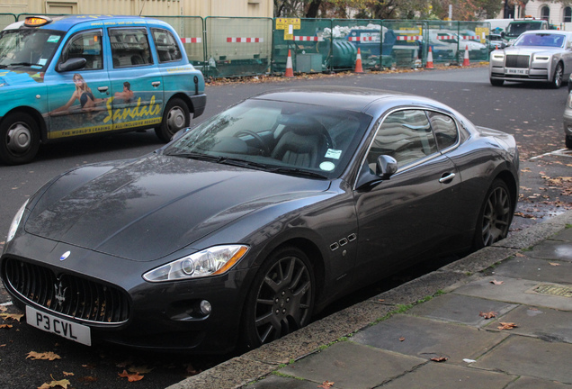
[[570,389],[570,356],[572,212],[168,389]]

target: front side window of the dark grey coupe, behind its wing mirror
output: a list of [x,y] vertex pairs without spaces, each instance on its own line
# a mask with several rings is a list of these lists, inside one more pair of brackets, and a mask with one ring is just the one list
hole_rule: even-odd
[[425,111],[398,111],[381,124],[368,154],[368,163],[375,164],[380,155],[389,155],[402,167],[435,152],[437,146]]

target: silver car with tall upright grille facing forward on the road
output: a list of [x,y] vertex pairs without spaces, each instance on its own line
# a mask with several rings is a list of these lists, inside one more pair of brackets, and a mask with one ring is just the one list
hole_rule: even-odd
[[559,88],[571,71],[572,32],[523,32],[512,46],[490,55],[489,76],[493,86],[502,86],[505,81],[540,81]]

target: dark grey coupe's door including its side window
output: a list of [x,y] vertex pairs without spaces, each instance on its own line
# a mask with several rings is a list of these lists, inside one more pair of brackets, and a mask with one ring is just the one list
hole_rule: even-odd
[[439,151],[424,110],[400,110],[386,117],[363,168],[373,174],[380,155],[395,158],[398,172],[354,192],[359,222],[356,274],[364,279],[407,266],[453,239],[451,221],[462,217],[456,198],[459,172]]

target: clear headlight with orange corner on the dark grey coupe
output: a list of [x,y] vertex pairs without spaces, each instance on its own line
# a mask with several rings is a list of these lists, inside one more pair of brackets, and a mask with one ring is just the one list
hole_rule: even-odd
[[233,267],[248,251],[245,245],[214,246],[157,267],[143,278],[149,282],[217,276]]

